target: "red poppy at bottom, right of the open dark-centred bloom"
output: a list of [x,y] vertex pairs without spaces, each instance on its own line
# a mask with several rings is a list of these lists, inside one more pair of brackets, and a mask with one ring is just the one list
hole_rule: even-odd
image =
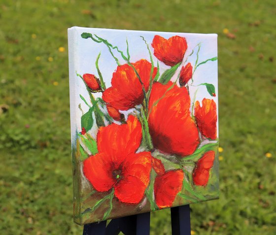
[[181,169],[169,170],[156,176],[154,181],[154,197],[159,208],[170,207],[176,195],[181,191],[184,173]]

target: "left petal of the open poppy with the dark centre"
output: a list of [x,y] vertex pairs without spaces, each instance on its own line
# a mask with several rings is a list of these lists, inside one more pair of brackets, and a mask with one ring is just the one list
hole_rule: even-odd
[[112,162],[103,153],[90,156],[83,162],[83,173],[93,187],[100,192],[111,189],[116,182],[112,177]]

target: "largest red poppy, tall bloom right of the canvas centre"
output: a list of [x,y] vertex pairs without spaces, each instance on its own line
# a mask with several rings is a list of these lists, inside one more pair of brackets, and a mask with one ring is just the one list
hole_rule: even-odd
[[190,112],[185,87],[156,82],[149,99],[149,133],[153,145],[168,154],[187,156],[199,144],[199,133]]

